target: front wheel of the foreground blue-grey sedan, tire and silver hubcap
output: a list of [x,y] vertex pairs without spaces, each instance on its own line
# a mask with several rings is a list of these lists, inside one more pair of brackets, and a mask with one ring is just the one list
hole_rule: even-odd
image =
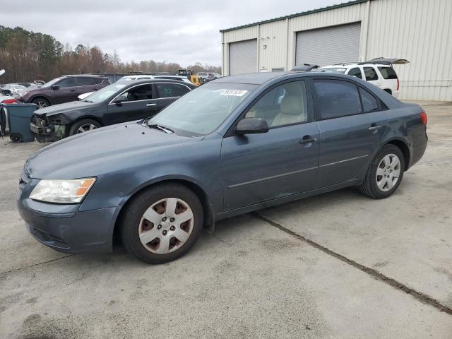
[[[168,204],[176,206],[174,213],[167,210]],[[145,263],[167,263],[186,254],[194,246],[204,223],[198,196],[179,184],[151,186],[134,196],[121,215],[121,242]],[[181,220],[191,219],[179,224],[178,215],[182,216]]]

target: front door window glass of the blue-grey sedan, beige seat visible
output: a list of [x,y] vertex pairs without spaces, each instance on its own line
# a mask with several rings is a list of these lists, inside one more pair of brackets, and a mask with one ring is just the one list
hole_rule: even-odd
[[308,120],[304,81],[279,85],[266,93],[246,112],[246,118],[261,118],[269,127],[301,124]]

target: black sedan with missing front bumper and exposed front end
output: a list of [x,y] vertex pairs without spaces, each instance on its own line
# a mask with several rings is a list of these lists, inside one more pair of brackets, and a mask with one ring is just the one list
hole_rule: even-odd
[[194,88],[172,80],[113,83],[84,100],[35,111],[30,128],[37,141],[57,141],[102,126],[153,117]]

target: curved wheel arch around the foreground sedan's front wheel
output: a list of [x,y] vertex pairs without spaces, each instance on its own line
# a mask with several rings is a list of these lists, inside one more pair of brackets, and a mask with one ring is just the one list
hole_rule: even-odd
[[213,208],[210,204],[210,201],[208,199],[208,195],[206,194],[206,191],[196,184],[193,181],[190,181],[186,178],[171,178],[171,179],[160,179],[157,181],[150,182],[148,184],[145,184],[144,186],[141,186],[140,189],[136,190],[129,196],[126,201],[122,204],[119,213],[117,214],[117,218],[114,221],[114,228],[112,232],[112,239],[113,242],[119,241],[119,223],[121,222],[122,215],[124,213],[124,210],[126,210],[126,206],[129,205],[132,198],[134,196],[137,196],[141,192],[145,191],[145,189],[149,189],[151,186],[155,186],[157,184],[166,184],[166,183],[174,183],[174,184],[180,184],[184,185],[187,188],[191,189],[191,191],[194,191],[194,194],[198,196],[199,201],[201,201],[201,205],[203,206],[203,212],[204,212],[204,228],[209,232],[213,232],[215,229],[215,220],[213,216]]

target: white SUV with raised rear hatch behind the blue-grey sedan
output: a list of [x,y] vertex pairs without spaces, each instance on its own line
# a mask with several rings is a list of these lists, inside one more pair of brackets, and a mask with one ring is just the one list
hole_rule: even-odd
[[362,80],[369,81],[369,83],[376,85],[382,90],[386,90],[394,97],[398,97],[400,81],[392,65],[408,64],[408,62],[410,61],[405,59],[377,58],[357,64],[323,66],[319,69],[313,69],[312,72],[341,73],[356,76]]

